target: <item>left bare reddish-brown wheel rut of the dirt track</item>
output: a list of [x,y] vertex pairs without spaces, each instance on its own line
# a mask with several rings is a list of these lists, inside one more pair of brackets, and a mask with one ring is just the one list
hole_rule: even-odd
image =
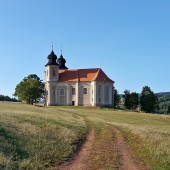
[[59,170],[85,170],[88,166],[88,157],[92,150],[94,141],[94,128],[90,131],[86,138],[86,142],[81,147],[79,153],[75,157],[59,167]]

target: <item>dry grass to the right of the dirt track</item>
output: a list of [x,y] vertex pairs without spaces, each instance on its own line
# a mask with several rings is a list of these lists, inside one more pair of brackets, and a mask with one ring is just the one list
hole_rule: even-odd
[[107,122],[121,130],[136,155],[150,169],[170,168],[170,116],[91,109],[91,121]]

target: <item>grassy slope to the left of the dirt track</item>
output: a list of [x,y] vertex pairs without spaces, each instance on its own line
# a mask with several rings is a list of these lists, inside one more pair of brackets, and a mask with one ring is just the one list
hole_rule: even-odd
[[82,117],[55,108],[12,103],[0,108],[0,169],[56,167],[87,131]]

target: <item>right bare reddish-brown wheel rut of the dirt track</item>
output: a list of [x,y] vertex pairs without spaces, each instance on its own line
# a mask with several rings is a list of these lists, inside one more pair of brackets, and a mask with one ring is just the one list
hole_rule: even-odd
[[122,133],[116,128],[113,129],[115,133],[114,150],[117,152],[117,167],[119,170],[148,170],[148,168],[135,157],[132,150],[126,143]]

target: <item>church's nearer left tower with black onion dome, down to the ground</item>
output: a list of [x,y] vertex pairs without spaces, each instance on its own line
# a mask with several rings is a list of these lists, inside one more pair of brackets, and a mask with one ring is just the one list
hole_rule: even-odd
[[48,63],[45,65],[45,105],[54,105],[53,94],[55,93],[55,83],[59,79],[59,65],[57,64],[57,55],[52,51],[47,57]]

